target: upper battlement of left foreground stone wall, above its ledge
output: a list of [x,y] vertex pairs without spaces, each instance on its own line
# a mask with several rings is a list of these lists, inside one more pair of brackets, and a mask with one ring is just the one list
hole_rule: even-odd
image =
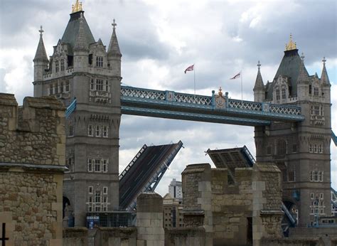
[[0,162],[65,165],[65,107],[53,97],[0,93]]

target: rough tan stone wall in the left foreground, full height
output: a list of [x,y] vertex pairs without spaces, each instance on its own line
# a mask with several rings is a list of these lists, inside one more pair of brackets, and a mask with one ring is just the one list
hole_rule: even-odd
[[64,111],[50,97],[18,107],[0,93],[0,224],[9,245],[62,244]]

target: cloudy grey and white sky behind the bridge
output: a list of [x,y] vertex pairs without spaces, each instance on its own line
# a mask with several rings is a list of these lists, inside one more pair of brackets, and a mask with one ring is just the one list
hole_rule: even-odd
[[[48,55],[62,37],[75,0],[0,0],[0,92],[33,95],[33,57],[38,29]],[[257,60],[264,82],[272,80],[292,33],[304,53],[311,75],[321,76],[323,56],[332,82],[332,128],[337,133],[337,1],[107,1],[83,0],[85,18],[95,39],[108,46],[112,19],[122,50],[124,85],[211,95],[223,87],[241,98],[240,80],[229,80],[240,70],[243,98],[253,100]],[[151,127],[149,127],[151,126]],[[122,171],[143,144],[183,141],[157,191],[164,195],[172,178],[181,179],[187,164],[211,162],[204,151],[244,144],[255,154],[253,127],[184,122],[172,119],[122,116],[120,167]],[[337,188],[337,147],[331,144],[331,180]]]

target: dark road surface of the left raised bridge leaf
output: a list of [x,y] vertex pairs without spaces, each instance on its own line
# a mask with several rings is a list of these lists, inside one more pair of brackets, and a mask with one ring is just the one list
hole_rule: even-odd
[[128,208],[177,144],[148,146],[119,181],[119,205]]

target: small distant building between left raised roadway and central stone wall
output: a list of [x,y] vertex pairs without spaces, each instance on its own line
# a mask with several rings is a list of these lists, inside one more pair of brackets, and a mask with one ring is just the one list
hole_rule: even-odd
[[[175,180],[173,179],[173,181]],[[172,198],[171,194],[167,193],[163,198],[164,228],[182,228],[182,211],[183,205],[181,201],[178,198]]]

